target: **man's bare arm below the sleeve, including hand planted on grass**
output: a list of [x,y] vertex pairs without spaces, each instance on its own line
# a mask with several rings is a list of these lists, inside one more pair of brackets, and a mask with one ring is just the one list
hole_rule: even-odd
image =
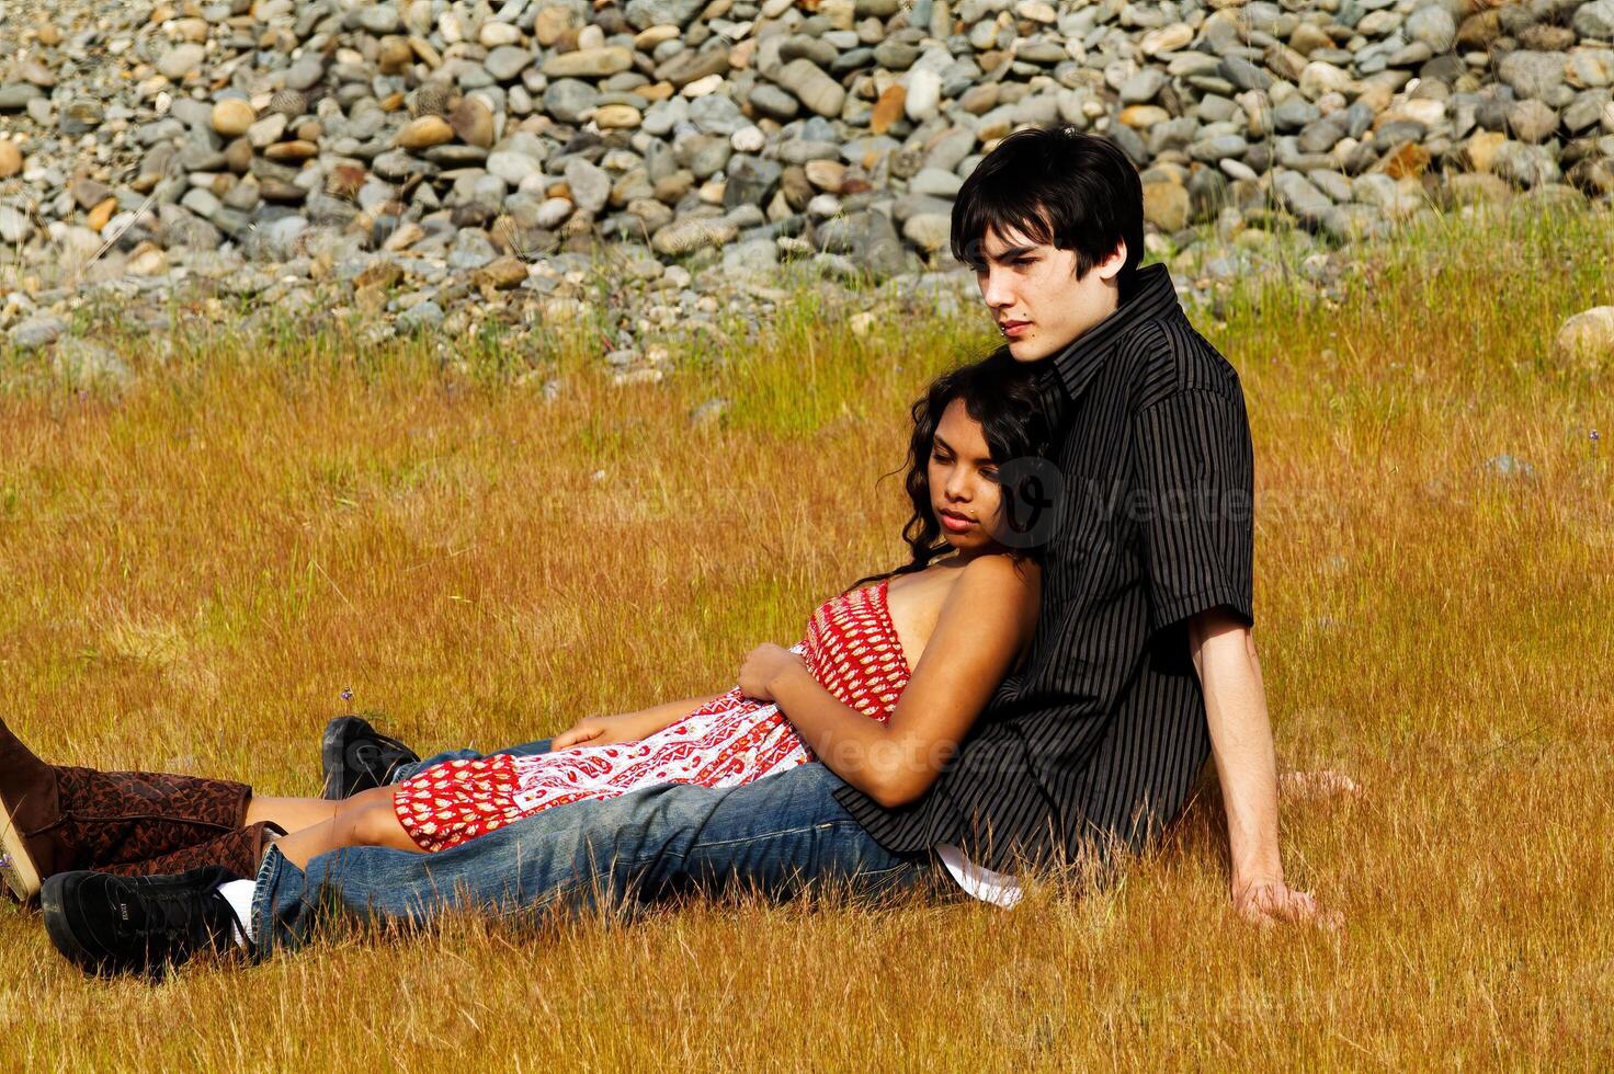
[[[1290,890],[1283,882],[1278,766],[1249,627],[1225,608],[1212,608],[1188,621],[1188,645],[1206,698],[1210,755],[1227,810],[1233,906],[1257,924],[1315,918],[1317,900],[1311,892]],[[1336,924],[1336,918],[1327,921]]]

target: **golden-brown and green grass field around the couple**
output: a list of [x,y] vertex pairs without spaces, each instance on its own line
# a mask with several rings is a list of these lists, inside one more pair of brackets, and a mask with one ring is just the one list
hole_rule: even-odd
[[[0,908],[0,1069],[1606,1066],[1614,361],[1551,339],[1614,300],[1611,255],[1608,214],[1448,221],[1338,303],[1194,313],[1249,402],[1280,769],[1361,787],[1283,803],[1341,932],[1235,918],[1207,782],[1122,882],[1012,913],[454,921],[153,989],[81,979]],[[847,313],[804,298],[629,387],[581,343],[444,364],[336,329],[108,329],[121,392],[5,356],[5,718],[47,760],[312,793],[349,708],[492,748],[726,689],[897,561],[905,406],[991,345],[975,311]]]

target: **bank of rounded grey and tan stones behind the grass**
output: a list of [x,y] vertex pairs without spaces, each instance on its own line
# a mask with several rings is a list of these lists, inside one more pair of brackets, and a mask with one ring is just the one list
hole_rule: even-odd
[[1614,0],[0,0],[0,31],[5,324],[98,281],[274,298],[253,263],[434,324],[600,244],[673,323],[781,260],[947,268],[962,179],[1054,121],[1125,148],[1175,248],[1614,192]]

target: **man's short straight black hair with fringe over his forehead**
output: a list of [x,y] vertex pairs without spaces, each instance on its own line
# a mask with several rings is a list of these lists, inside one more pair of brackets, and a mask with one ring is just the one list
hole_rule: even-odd
[[1022,127],[988,153],[952,202],[952,256],[985,264],[986,232],[1018,231],[1077,255],[1077,277],[1120,240],[1125,297],[1143,260],[1143,182],[1119,145],[1073,126]]

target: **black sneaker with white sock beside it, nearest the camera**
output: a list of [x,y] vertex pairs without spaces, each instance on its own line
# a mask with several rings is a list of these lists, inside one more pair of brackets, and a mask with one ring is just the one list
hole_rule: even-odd
[[239,879],[223,866],[140,877],[58,872],[39,903],[50,942],[84,972],[157,976],[200,953],[242,950],[236,913],[218,890]]

